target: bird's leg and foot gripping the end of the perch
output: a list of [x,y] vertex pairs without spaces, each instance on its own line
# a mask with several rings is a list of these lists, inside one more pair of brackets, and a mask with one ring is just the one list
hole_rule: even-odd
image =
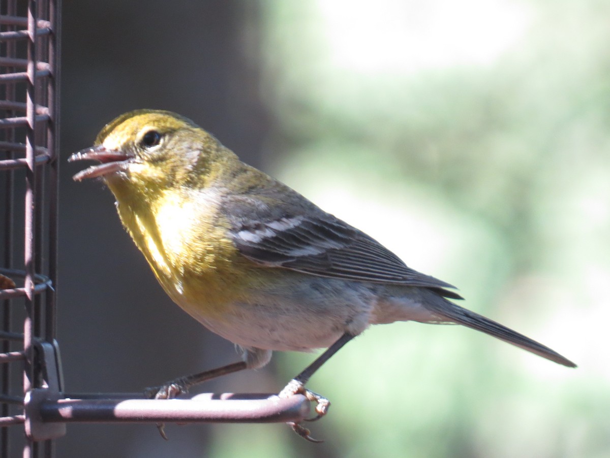
[[[315,361],[312,362],[312,364],[308,365],[303,370],[303,372],[301,372],[290,382],[288,382],[284,389],[279,392],[279,396],[281,398],[287,398],[292,395],[302,394],[309,401],[315,401],[315,412],[317,415],[314,418],[310,418],[308,421],[319,420],[321,417],[326,415],[326,413],[328,412],[328,407],[331,406],[331,401],[326,399],[324,396],[320,396],[317,393],[306,389],[305,384],[307,383],[307,381],[309,381],[309,378],[314,375],[314,372],[316,372],[321,367],[321,365],[328,361],[333,354],[337,353],[337,351],[339,351],[340,348],[343,347],[343,345],[350,342],[350,340],[353,338],[354,336],[352,336],[351,334],[343,334],[343,336],[339,337],[339,340],[337,340],[334,344],[328,347],[324,353],[318,356],[318,358],[316,358]],[[309,429],[305,428],[303,425],[301,425],[301,423],[289,421],[288,425],[296,432],[296,434],[300,435],[304,439],[307,439],[310,442],[322,442],[320,440],[313,439],[309,435]]]

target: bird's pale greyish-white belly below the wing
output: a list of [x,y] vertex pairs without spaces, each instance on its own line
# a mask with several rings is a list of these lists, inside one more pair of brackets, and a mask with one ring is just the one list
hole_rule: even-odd
[[376,297],[365,284],[302,275],[296,280],[252,291],[247,301],[223,306],[221,314],[174,300],[210,331],[242,347],[309,351],[368,327]]

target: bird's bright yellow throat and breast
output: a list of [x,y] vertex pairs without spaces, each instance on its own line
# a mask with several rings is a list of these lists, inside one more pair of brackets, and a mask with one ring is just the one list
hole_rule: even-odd
[[121,220],[165,292],[200,321],[221,319],[245,294],[247,279],[236,267],[249,261],[228,238],[226,220],[218,219],[217,194],[170,189],[151,201],[117,191]]

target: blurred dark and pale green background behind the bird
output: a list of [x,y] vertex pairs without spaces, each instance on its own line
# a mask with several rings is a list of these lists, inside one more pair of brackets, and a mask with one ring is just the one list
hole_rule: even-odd
[[[458,326],[376,326],[321,368],[312,445],[284,425],[70,425],[58,456],[606,457],[610,2],[64,2],[62,155],[178,111],[570,370]],[[62,166],[67,389],[235,361],[165,297],[110,192]],[[274,392],[314,354],[200,390]]]

